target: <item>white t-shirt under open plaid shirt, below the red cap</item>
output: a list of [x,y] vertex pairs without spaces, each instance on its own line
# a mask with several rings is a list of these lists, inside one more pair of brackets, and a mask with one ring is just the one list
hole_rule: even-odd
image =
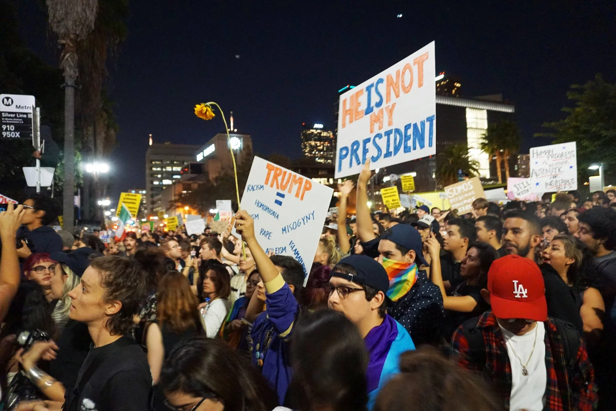
[[[500,324],[498,326],[500,327]],[[530,330],[530,332],[524,335],[514,335],[503,327],[500,327],[500,329],[507,346],[509,362],[511,362],[509,410],[543,410],[543,395],[545,394],[546,380],[548,378],[545,368],[545,327],[543,322],[538,321],[535,329]],[[530,352],[533,349],[533,341],[535,341],[535,332],[537,333],[537,344],[535,344],[535,351],[529,360]],[[529,361],[529,364],[526,366],[529,375],[522,375],[522,364],[520,364],[520,360],[513,353],[512,347],[516,350],[520,360],[522,360],[522,364],[526,364]]]

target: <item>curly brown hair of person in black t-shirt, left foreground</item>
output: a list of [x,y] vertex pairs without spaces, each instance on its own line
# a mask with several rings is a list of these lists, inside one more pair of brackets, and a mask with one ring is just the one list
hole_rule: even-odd
[[100,275],[106,303],[120,301],[120,311],[107,319],[111,335],[125,335],[133,327],[132,317],[147,296],[147,273],[135,259],[106,256],[92,259],[90,266]]

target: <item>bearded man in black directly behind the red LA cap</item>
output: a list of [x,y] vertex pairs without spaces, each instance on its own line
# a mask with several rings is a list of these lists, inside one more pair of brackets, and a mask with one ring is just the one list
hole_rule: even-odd
[[[516,254],[534,261],[535,248],[541,239],[541,222],[534,214],[511,211],[505,216],[501,237],[505,254]],[[540,269],[545,283],[548,315],[570,322],[582,331],[582,318],[571,288],[549,264],[541,264]]]

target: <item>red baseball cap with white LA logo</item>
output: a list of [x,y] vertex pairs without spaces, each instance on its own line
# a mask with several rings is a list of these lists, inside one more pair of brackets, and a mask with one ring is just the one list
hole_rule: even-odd
[[488,291],[497,318],[548,319],[543,274],[528,258],[509,254],[496,259],[488,271]]

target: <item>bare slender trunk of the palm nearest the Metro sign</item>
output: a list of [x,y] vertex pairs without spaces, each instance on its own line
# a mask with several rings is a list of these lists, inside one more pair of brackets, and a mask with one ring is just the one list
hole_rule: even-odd
[[63,229],[75,227],[75,78],[70,70],[64,74],[64,190],[62,201]]

